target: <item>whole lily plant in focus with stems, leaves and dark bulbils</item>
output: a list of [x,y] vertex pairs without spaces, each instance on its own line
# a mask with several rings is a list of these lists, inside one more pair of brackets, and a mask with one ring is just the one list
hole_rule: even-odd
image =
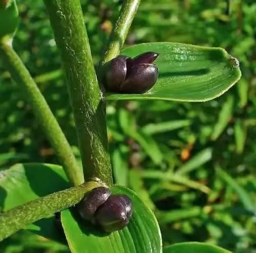
[[[238,60],[223,48],[173,42],[123,48],[140,4],[140,0],[125,0],[95,67],[80,1],[44,3],[65,72],[82,168],[12,47],[19,23],[16,2],[0,0],[0,59],[26,93],[59,161],[59,165],[16,164],[1,171],[0,241],[23,229],[68,243],[73,253],[106,249],[110,253],[229,252],[198,242],[163,248],[154,212],[135,192],[113,184],[105,108],[109,100],[119,99],[164,99],[169,103],[214,99],[240,79]],[[59,212],[60,220],[55,215]]]

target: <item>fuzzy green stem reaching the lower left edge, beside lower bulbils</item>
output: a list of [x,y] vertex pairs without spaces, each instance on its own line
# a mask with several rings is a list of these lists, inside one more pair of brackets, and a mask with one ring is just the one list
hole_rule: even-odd
[[37,198],[1,214],[0,241],[18,230],[24,229],[27,224],[76,205],[84,194],[99,186],[97,182],[91,181],[77,187]]

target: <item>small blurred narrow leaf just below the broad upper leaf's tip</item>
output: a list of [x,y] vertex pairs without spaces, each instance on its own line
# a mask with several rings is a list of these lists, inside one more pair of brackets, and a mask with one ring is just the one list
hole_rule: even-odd
[[223,104],[221,111],[219,113],[218,121],[215,124],[214,130],[211,134],[211,140],[217,140],[218,137],[225,130],[226,126],[228,125],[229,120],[232,117],[233,104],[234,104],[233,96],[228,96],[227,100]]

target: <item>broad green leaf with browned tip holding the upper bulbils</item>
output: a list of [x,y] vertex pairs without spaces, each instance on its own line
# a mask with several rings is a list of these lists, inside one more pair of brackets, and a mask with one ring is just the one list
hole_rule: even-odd
[[159,78],[144,94],[108,93],[106,98],[165,99],[203,102],[222,95],[241,77],[239,62],[222,48],[182,43],[143,43],[127,47],[121,54],[135,57],[146,51],[159,53],[155,61]]

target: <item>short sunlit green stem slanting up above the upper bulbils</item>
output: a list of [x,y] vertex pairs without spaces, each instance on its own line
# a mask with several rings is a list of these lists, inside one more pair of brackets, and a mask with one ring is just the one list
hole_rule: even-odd
[[120,16],[111,34],[110,43],[106,49],[102,64],[119,55],[135,14],[138,10],[139,4],[140,0],[125,0],[123,2]]

